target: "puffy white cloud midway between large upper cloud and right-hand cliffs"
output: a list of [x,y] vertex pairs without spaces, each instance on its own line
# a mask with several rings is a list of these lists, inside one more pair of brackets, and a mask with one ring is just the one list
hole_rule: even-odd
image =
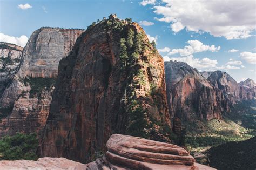
[[204,45],[199,40],[188,40],[187,43],[189,45],[186,45],[184,49],[172,49],[171,52],[169,52],[169,55],[174,55],[176,53],[179,53],[180,56],[188,56],[192,55],[193,53],[202,52],[202,51],[212,51],[216,52],[220,50],[220,46],[215,47],[215,45]]

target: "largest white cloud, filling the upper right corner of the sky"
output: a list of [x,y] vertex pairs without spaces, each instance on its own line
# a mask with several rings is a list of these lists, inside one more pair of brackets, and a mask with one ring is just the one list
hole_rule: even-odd
[[161,0],[154,6],[154,13],[163,17],[158,21],[172,23],[174,32],[186,28],[187,31],[209,32],[214,37],[240,39],[252,36],[256,22],[254,0],[233,1],[180,1]]

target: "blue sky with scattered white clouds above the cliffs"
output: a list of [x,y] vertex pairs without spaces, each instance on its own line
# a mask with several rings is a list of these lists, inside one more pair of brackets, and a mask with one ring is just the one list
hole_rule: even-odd
[[165,61],[256,81],[254,0],[0,0],[0,41],[25,46],[42,26],[86,29],[111,13],[138,22]]

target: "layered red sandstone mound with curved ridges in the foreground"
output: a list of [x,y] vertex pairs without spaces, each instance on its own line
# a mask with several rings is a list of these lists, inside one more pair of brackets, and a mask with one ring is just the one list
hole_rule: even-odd
[[103,158],[87,164],[88,169],[214,169],[194,164],[182,147],[144,138],[113,134]]

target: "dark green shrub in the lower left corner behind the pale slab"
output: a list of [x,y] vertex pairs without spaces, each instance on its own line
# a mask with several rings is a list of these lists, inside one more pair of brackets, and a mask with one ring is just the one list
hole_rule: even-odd
[[5,160],[37,160],[37,146],[38,139],[35,133],[17,133],[14,136],[5,136],[0,140],[0,154]]

